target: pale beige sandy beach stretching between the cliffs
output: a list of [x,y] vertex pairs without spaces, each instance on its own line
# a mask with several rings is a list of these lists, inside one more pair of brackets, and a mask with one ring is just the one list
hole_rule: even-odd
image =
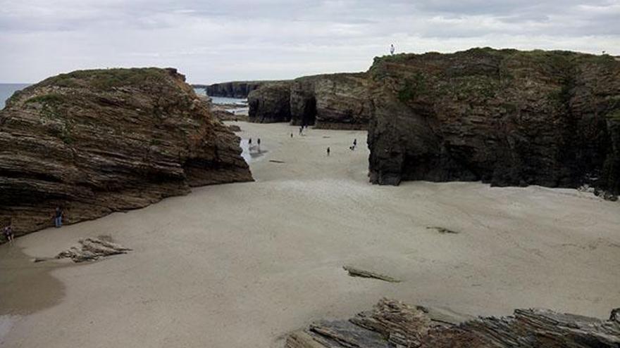
[[[286,124],[239,124],[268,150],[253,159],[256,182],[0,246],[0,346],[278,347],[290,330],[383,296],[483,315],[547,307],[605,318],[620,306],[617,203],[540,187],[372,186],[368,150],[348,149],[363,131],[300,137]],[[77,266],[22,254],[101,234],[134,251]],[[352,278],[345,264],[403,282]]]

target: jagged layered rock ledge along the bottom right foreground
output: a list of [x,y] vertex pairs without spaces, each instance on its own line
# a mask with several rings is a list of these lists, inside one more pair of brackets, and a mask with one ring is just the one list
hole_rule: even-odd
[[437,318],[424,307],[381,299],[349,320],[318,321],[287,337],[287,348],[620,347],[619,309],[608,321],[548,309],[470,321]]

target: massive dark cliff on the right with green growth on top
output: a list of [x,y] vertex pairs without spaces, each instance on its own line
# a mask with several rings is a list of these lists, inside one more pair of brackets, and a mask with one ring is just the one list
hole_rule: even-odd
[[371,181],[619,189],[620,62],[561,51],[376,58]]

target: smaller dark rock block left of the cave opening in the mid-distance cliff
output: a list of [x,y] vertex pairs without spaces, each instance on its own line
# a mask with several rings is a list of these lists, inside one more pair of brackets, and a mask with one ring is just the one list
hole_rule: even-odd
[[263,84],[259,89],[250,92],[249,121],[257,123],[289,122],[290,113],[290,82],[273,82]]

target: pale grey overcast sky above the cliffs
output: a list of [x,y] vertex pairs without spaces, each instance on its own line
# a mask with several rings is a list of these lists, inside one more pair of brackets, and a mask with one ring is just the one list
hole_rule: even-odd
[[285,79],[366,70],[392,43],[620,55],[620,0],[0,0],[0,82],[134,66]]

